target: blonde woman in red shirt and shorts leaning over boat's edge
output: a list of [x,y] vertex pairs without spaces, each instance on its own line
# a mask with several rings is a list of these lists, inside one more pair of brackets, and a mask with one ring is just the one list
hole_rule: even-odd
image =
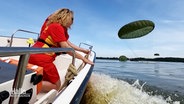
[[[44,22],[40,37],[33,47],[49,48],[49,47],[62,47],[62,48],[74,48],[77,51],[88,54],[90,51],[82,49],[73,43],[69,39],[67,30],[73,24],[73,11],[69,9],[59,9],[50,15]],[[72,55],[71,52],[67,54]],[[81,59],[83,62],[93,65],[94,63],[79,53],[75,52],[76,58]],[[51,89],[58,90],[61,85],[60,77],[56,66],[53,64],[57,54],[56,53],[44,53],[44,54],[32,54],[30,55],[29,63],[36,64],[43,67],[43,82],[42,91],[48,92]]]

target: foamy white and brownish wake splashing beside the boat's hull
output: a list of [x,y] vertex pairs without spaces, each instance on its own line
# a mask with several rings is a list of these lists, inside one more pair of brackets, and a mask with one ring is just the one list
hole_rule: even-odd
[[169,104],[162,96],[143,92],[144,84],[140,85],[137,80],[130,85],[108,75],[93,73],[81,104]]

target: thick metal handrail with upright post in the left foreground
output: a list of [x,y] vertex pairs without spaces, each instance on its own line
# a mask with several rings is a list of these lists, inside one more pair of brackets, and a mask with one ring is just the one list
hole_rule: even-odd
[[[13,90],[18,91],[23,84],[26,65],[30,54],[46,53],[46,52],[69,52],[72,51],[72,64],[75,63],[75,50],[73,48],[30,48],[30,47],[0,47],[0,57],[20,56],[17,71],[13,82]],[[18,95],[10,97],[9,104],[18,103]]]

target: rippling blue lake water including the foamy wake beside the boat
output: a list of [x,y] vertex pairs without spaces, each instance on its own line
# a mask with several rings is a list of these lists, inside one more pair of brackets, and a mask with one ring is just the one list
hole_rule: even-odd
[[97,59],[81,104],[184,104],[184,63]]

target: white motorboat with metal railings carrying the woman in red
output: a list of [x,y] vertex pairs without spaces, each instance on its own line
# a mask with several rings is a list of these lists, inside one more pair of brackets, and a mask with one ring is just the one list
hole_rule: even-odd
[[[11,36],[0,36],[0,104],[79,104],[94,66],[76,59],[72,48],[32,48],[36,39],[15,36],[17,32],[39,36],[39,33],[22,29]],[[89,48],[90,54],[80,54],[95,62],[93,46],[86,43],[79,46]],[[68,51],[73,52],[72,57],[61,54],[54,62],[62,82],[60,90],[40,92],[43,68],[28,63],[29,55]]]

